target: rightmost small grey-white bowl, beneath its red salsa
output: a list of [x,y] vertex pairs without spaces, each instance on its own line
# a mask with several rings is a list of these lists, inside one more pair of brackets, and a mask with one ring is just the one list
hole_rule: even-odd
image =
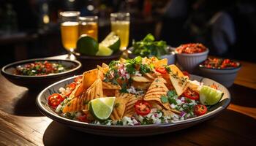
[[238,67],[232,69],[208,69],[203,66],[199,66],[200,74],[203,77],[208,77],[212,80],[216,80],[225,87],[229,88],[233,85],[233,82],[236,79],[238,71],[241,69],[241,64]]

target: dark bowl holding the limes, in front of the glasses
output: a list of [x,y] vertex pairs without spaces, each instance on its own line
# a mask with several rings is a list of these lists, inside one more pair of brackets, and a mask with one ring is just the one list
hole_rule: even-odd
[[109,64],[111,61],[116,61],[121,57],[122,52],[119,51],[110,56],[90,56],[90,55],[79,55],[74,53],[75,58],[83,64],[83,71],[96,69],[97,65],[102,66],[102,63]]

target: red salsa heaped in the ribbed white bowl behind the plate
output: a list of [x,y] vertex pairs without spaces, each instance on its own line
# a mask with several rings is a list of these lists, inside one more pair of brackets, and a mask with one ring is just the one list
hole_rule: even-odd
[[203,53],[206,51],[206,47],[200,43],[189,43],[180,45],[176,48],[178,53],[185,53],[185,54],[193,54],[193,53]]

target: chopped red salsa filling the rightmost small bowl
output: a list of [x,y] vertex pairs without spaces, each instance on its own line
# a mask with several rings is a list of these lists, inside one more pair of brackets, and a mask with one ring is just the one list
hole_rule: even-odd
[[230,59],[208,58],[202,66],[208,69],[230,69],[238,67],[239,63]]

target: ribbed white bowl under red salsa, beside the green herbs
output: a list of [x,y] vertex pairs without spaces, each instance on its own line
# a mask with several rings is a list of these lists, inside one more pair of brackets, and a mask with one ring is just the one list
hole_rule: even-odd
[[176,51],[176,56],[178,64],[182,67],[182,69],[186,70],[187,72],[193,72],[200,63],[206,60],[208,53],[209,50],[206,48],[206,51],[203,53],[186,54],[178,53]]

